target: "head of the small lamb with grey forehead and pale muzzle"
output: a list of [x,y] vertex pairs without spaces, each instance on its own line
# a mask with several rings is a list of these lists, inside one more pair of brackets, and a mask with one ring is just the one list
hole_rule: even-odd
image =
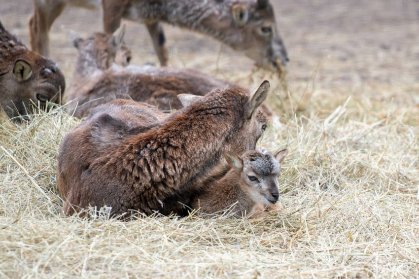
[[278,176],[281,163],[288,154],[284,149],[272,155],[269,151],[250,150],[241,157],[232,152],[224,153],[230,167],[240,174],[240,186],[256,204],[273,205],[279,199]]

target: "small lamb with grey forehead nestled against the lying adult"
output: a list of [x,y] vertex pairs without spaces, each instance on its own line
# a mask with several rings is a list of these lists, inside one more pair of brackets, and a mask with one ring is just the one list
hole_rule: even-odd
[[230,171],[219,180],[206,182],[203,192],[191,198],[192,208],[202,213],[224,213],[230,208],[235,216],[242,217],[264,205],[274,205],[279,198],[280,164],[287,153],[286,149],[275,156],[267,150],[250,150],[242,157],[224,153]]

